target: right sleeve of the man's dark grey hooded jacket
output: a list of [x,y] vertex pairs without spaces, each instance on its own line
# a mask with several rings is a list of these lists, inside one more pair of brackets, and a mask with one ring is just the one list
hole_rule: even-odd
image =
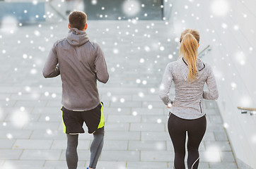
[[95,58],[95,70],[97,80],[103,83],[106,83],[109,79],[109,75],[107,72],[107,64],[105,61],[105,57],[103,51],[100,49],[100,46],[96,44],[96,58]]

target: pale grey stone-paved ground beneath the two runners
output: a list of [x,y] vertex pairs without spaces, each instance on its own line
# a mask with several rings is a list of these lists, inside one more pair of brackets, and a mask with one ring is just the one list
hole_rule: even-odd
[[[59,77],[42,67],[66,21],[0,32],[0,168],[66,168]],[[105,103],[105,145],[98,168],[173,168],[168,109],[158,98],[165,65],[178,57],[171,25],[163,21],[88,21],[110,72],[98,84]],[[176,53],[175,53],[176,52]],[[173,89],[172,89],[173,90]],[[172,93],[173,95],[174,93]],[[207,131],[199,168],[237,168],[215,101],[205,101]],[[92,136],[81,134],[79,168],[88,166]]]

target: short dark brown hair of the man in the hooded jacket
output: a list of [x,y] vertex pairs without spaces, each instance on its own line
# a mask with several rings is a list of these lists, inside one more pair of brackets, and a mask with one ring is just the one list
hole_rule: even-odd
[[71,28],[77,28],[83,30],[86,26],[87,15],[81,11],[74,11],[69,14],[69,25]]

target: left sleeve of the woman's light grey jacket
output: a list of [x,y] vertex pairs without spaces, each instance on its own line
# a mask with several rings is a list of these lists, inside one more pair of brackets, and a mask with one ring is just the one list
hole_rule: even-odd
[[173,82],[173,75],[171,72],[170,63],[166,66],[165,72],[163,73],[163,80],[159,89],[159,96],[165,105],[172,104],[173,101],[170,100],[168,94],[170,92],[170,87]]

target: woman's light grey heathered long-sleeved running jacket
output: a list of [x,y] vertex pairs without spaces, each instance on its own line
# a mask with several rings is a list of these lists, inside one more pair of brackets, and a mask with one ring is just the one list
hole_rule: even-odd
[[[197,59],[197,80],[188,80],[188,67],[185,58],[168,63],[163,73],[159,96],[165,105],[171,104],[170,112],[179,118],[196,119],[205,115],[203,99],[216,100],[219,97],[216,80],[211,66]],[[170,100],[168,93],[172,82],[175,84],[175,99]],[[204,91],[204,84],[208,91]]]

